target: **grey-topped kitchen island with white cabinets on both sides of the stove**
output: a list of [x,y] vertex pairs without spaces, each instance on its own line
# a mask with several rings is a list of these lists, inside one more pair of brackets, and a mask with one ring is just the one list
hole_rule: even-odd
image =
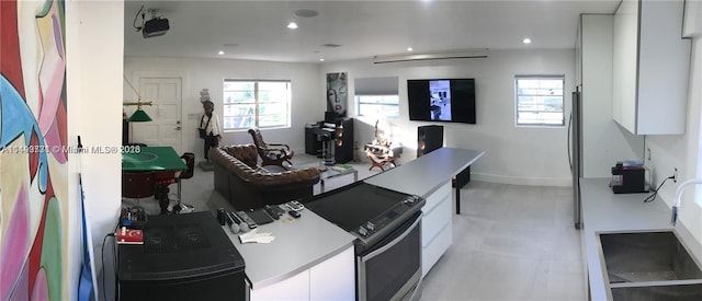
[[[451,244],[451,178],[485,152],[442,148],[365,183],[418,195],[422,208],[422,276]],[[310,210],[299,219],[259,225],[275,240],[269,244],[241,244],[238,234],[227,235],[246,262],[251,300],[354,300],[355,236]]]

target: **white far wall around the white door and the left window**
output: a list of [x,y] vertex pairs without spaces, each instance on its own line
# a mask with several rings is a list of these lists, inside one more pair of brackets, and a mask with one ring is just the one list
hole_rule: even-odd
[[[304,128],[306,123],[324,118],[326,92],[321,90],[319,67],[316,63],[287,63],[233,59],[185,59],[185,58],[136,58],[124,59],[124,74],[132,83],[138,82],[139,73],[173,74],[183,77],[182,81],[182,151],[194,152],[203,158],[203,140],[197,138],[196,128],[203,109],[200,91],[210,89],[215,112],[222,123],[223,82],[225,79],[291,80],[292,81],[292,124],[286,129],[262,130],[268,142],[290,144],[296,152],[304,152]],[[124,83],[124,102],[136,100],[132,90]],[[138,88],[137,88],[138,89]],[[132,92],[133,93],[133,92]],[[126,108],[131,114],[134,107]],[[189,117],[191,116],[191,117]],[[252,143],[251,136],[244,131],[225,132],[223,144]]]

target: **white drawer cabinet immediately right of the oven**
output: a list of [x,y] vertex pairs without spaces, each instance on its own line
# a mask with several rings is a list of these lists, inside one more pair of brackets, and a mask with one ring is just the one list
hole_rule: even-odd
[[451,182],[448,182],[430,196],[422,208],[421,221],[421,276],[434,266],[446,252],[453,240],[451,223]]

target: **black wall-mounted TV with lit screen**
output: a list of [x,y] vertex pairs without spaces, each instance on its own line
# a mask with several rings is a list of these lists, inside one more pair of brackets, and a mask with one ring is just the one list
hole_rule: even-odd
[[475,124],[475,80],[407,80],[409,119]]

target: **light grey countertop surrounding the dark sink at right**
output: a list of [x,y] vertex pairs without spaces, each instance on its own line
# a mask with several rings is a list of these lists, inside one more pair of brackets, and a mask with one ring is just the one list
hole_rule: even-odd
[[[600,254],[599,233],[673,230],[690,255],[702,262],[702,245],[678,222],[670,224],[670,208],[656,198],[644,202],[649,194],[613,194],[610,178],[580,178],[582,197],[582,257],[587,262],[591,300],[612,300],[607,271]],[[682,209],[684,210],[684,209]]]

